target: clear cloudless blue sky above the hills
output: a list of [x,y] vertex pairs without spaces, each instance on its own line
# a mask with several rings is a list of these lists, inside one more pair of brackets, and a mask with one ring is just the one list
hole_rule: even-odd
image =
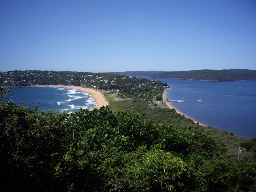
[[256,69],[256,0],[0,0],[0,71]]

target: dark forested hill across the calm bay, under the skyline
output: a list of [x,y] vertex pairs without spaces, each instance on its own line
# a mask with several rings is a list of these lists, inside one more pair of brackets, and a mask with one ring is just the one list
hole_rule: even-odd
[[207,81],[256,80],[256,70],[223,69],[223,70],[191,70],[157,73],[152,78],[194,79]]

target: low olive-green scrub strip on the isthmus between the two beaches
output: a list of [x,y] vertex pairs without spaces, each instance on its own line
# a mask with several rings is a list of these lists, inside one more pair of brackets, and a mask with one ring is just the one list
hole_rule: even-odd
[[[149,105],[152,104],[148,104],[147,101],[132,95],[122,93],[122,97],[120,97],[116,96],[113,92],[102,91],[102,93],[109,102],[109,107],[113,112],[124,111],[134,115],[140,114],[144,116],[145,120],[152,120],[155,123],[166,123],[173,127],[180,128],[189,126],[207,133],[208,136],[213,138],[216,142],[223,142],[225,144],[228,149],[226,155],[229,158],[237,158],[240,144],[250,141],[249,138],[236,136],[218,128],[195,124],[192,120],[176,113],[174,109],[169,109],[165,102],[162,101],[158,104],[162,108],[155,106],[152,109],[149,107]],[[246,149],[242,148],[241,159],[250,159],[252,158],[251,156],[252,154],[247,153]]]

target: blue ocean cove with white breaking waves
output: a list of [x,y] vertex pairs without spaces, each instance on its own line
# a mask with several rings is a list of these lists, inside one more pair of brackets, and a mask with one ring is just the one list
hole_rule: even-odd
[[92,110],[92,107],[97,105],[91,95],[78,89],[43,86],[9,89],[10,92],[16,92],[10,98],[15,104],[23,102],[32,107],[34,104],[40,103],[39,110],[52,109],[53,112],[69,110],[69,112],[74,113],[80,108]]

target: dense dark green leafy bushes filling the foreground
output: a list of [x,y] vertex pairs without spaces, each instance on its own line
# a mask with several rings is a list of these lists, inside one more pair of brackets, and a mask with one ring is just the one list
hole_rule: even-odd
[[0,102],[2,191],[255,191],[256,164],[223,144],[101,108],[52,113]]

